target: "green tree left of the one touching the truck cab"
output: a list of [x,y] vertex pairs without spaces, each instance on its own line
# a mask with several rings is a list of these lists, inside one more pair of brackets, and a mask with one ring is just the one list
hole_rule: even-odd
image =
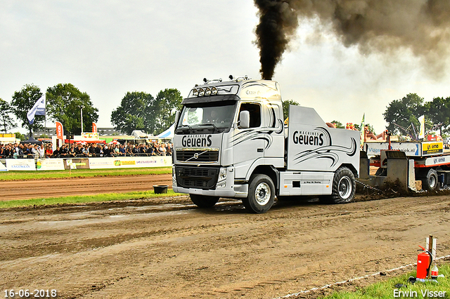
[[117,109],[111,113],[115,130],[131,134],[134,130],[153,131],[155,98],[148,93],[128,92]]

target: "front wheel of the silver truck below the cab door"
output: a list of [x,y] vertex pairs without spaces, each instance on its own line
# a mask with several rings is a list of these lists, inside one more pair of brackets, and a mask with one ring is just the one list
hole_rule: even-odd
[[242,200],[252,213],[266,213],[274,204],[275,186],[268,175],[257,174],[250,178],[248,197]]

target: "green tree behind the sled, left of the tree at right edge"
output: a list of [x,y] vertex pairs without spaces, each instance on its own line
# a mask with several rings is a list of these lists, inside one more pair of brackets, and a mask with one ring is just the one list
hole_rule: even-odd
[[390,132],[394,134],[409,133],[414,136],[416,134],[411,124],[417,129],[419,126],[418,117],[424,112],[423,98],[420,98],[416,93],[409,93],[401,100],[390,102],[385,113],[383,113],[383,117],[389,123],[387,129]]

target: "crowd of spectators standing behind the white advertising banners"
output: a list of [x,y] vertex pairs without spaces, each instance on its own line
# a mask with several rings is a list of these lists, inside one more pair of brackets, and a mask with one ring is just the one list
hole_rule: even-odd
[[52,150],[53,145],[9,143],[0,144],[0,159],[11,158],[89,158],[89,157],[133,157],[133,156],[172,156],[171,143],[147,143],[147,144],[96,144],[82,142],[77,144],[65,144]]

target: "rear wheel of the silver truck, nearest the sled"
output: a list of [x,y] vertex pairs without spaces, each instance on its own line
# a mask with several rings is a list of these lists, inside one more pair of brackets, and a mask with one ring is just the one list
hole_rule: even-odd
[[333,178],[333,191],[330,201],[333,204],[347,204],[354,199],[356,180],[352,171],[347,167],[341,167],[335,172]]

